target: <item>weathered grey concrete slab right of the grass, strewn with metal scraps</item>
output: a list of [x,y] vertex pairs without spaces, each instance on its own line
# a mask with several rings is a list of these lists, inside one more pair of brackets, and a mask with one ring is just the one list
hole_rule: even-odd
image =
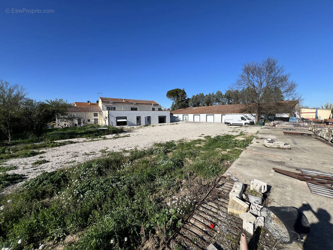
[[[311,133],[306,129],[295,132]],[[303,181],[276,173],[272,168],[297,172],[296,168],[333,173],[333,147],[314,138],[285,136],[282,128],[262,128],[247,149],[291,158],[282,160],[270,156],[242,152],[230,166],[231,173],[244,184],[259,179],[271,186],[269,206],[293,206],[299,208],[310,223],[311,232],[304,245],[293,243],[286,245],[289,249],[333,249],[333,199],[312,194]],[[291,145],[291,150],[267,148],[264,139],[273,138]],[[268,187],[270,188],[270,187]]]

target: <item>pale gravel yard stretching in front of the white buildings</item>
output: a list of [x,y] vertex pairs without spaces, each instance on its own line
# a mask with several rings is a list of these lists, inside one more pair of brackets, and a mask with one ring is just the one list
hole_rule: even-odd
[[[199,122],[177,122],[164,125],[150,125],[148,127],[126,128],[127,133],[118,136],[108,135],[106,139],[85,140],[75,139],[75,144],[66,146],[41,149],[46,151],[33,157],[10,159],[5,165],[16,166],[15,170],[7,173],[26,174],[28,179],[34,178],[42,171],[54,171],[72,164],[85,162],[87,160],[101,156],[100,150],[121,151],[123,149],[143,149],[149,148],[157,142],[177,141],[180,139],[194,140],[210,135],[239,134],[243,131],[247,134],[256,133],[259,126],[226,126],[222,123],[199,123]],[[127,136],[127,137],[124,137]],[[43,158],[39,158],[43,156]],[[47,160],[49,162],[41,165],[32,165],[37,160]]]

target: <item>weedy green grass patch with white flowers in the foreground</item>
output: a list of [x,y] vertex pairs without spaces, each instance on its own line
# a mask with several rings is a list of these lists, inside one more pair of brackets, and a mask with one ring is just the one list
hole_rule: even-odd
[[[43,173],[0,197],[0,245],[34,249],[77,235],[66,250],[138,249],[141,230],[148,236],[166,228],[165,235],[171,235],[199,198],[179,194],[172,203],[181,183],[209,183],[224,173],[225,162],[241,153],[234,147],[246,147],[253,137],[235,138],[171,141],[126,154],[105,151],[104,157]],[[195,188],[195,181],[188,183],[189,190]]]

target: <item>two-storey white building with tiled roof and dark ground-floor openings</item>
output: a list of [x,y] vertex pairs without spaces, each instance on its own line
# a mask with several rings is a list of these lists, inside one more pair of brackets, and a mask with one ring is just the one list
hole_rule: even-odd
[[101,125],[137,126],[170,123],[170,111],[156,101],[100,97]]

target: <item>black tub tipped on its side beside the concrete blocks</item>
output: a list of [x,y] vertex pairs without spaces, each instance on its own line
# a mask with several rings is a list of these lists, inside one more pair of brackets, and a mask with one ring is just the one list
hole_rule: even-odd
[[268,231],[284,244],[302,243],[310,232],[308,219],[295,207],[263,207],[260,215],[265,217]]

